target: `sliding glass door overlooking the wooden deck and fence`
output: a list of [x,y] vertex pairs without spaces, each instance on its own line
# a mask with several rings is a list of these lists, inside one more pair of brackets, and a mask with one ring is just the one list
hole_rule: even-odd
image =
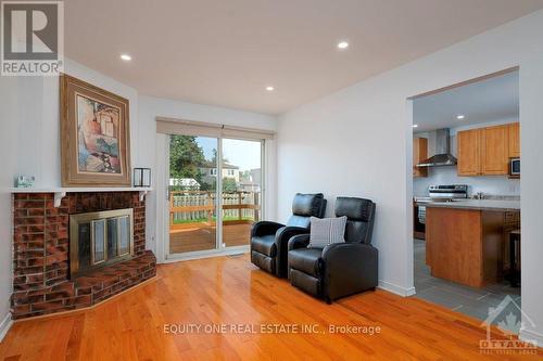
[[263,141],[168,139],[168,254],[248,246],[251,225],[262,218]]

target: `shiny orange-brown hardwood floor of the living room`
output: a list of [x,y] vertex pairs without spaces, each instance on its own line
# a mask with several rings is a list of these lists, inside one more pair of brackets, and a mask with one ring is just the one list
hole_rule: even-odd
[[[165,324],[318,325],[318,333],[167,334]],[[332,334],[329,325],[379,326]],[[171,328],[173,330],[173,328]],[[312,328],[315,331],[315,328]],[[203,331],[203,330],[202,330]],[[217,330],[219,331],[219,330]],[[267,328],[266,331],[273,331]],[[281,330],[279,330],[281,331]],[[285,330],[282,330],[285,331]],[[362,331],[362,328],[359,328]],[[496,337],[500,337],[497,334]],[[16,322],[2,360],[525,360],[481,354],[480,321],[383,291],[329,306],[253,267],[249,257],[159,267],[159,276],[93,309]]]

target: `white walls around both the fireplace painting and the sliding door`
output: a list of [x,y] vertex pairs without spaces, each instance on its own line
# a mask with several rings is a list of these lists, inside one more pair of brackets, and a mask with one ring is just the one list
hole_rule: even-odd
[[[65,73],[109,90],[130,102],[130,151],[132,167],[155,169],[155,117],[171,116],[189,120],[228,124],[275,130],[276,118],[224,107],[139,96],[136,89],[123,85],[81,64],[65,60]],[[141,103],[140,102],[141,98]],[[11,194],[15,175],[34,175],[36,188],[61,186],[60,113],[58,77],[0,77],[0,338],[2,321],[9,315],[12,292],[12,214]],[[267,218],[276,217],[276,151],[268,142]],[[155,176],[155,175],[154,175]],[[153,177],[155,178],[155,177]],[[155,250],[155,192],[148,195],[146,247]]]

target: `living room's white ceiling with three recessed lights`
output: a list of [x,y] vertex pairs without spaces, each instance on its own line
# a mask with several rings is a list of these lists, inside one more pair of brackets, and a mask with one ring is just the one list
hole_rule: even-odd
[[[542,8],[543,0],[70,0],[65,52],[142,94],[279,114]],[[344,39],[350,48],[337,50]]]

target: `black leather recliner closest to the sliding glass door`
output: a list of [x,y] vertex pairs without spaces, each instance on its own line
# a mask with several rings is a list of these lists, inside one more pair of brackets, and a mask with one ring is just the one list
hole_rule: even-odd
[[279,278],[287,276],[289,240],[298,234],[310,233],[310,217],[323,218],[326,199],[323,193],[298,193],[292,202],[292,217],[287,225],[261,221],[251,229],[251,262]]

